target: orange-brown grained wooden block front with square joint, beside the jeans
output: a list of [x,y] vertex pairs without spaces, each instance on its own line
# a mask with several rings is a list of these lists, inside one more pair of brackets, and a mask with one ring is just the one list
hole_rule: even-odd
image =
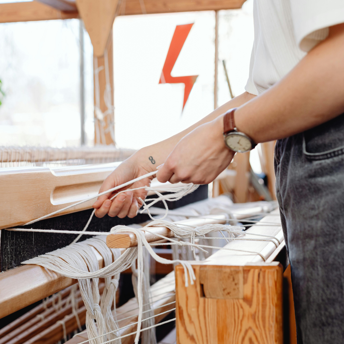
[[230,270],[241,269],[242,297],[204,297],[201,266],[194,266],[196,281],[187,288],[184,269],[176,267],[177,343],[282,344],[282,266],[273,262],[227,268],[219,288],[225,278],[232,283]]

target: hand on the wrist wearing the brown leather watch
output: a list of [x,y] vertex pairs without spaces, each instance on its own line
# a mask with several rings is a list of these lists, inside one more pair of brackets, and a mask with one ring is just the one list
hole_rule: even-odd
[[165,183],[211,183],[232,161],[235,152],[225,146],[223,115],[184,136],[159,168]]

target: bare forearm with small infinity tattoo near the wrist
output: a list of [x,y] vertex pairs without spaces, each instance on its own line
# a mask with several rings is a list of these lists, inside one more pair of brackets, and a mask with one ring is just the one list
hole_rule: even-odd
[[[191,127],[181,131],[180,133],[174,136],[171,136],[170,138],[164,141],[152,144],[151,146],[148,146],[148,147],[144,147],[139,152],[137,152],[137,154],[140,155],[140,159],[141,158],[145,159],[144,163],[148,165],[147,167],[153,168],[153,167],[159,166],[166,160],[166,158],[171,153],[175,145],[190,131],[194,130],[195,128],[202,125],[203,123],[212,121],[213,119],[215,119],[216,117],[218,117],[219,115],[223,114],[224,112],[226,112],[227,110],[233,107],[239,107],[245,104],[247,101],[249,101],[250,99],[254,97],[255,95],[244,92],[240,94],[239,96],[229,100],[224,105],[218,107],[209,115],[202,118],[200,121],[198,121]],[[149,157],[152,157],[152,159],[154,159],[155,161],[154,164],[151,163],[151,160],[149,160]]]

